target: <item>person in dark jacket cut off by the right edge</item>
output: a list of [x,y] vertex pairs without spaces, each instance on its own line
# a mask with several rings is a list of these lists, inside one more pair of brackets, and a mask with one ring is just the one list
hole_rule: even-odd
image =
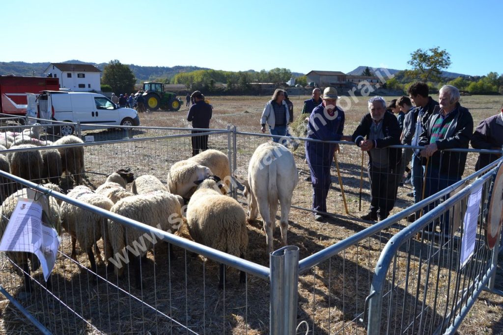
[[[503,105],[500,113],[482,120],[473,133],[471,140],[474,149],[501,150],[503,146]],[[501,157],[498,154],[480,154],[475,170],[480,170]]]

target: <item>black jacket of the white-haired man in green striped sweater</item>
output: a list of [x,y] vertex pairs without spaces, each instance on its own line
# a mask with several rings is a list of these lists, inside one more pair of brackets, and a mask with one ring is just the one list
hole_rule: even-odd
[[[432,166],[439,167],[442,174],[459,179],[465,171],[467,153],[443,150],[468,148],[473,133],[473,119],[470,111],[461,106],[459,102],[456,104],[456,108],[458,111],[453,115],[454,120],[447,130],[445,138],[436,141],[438,151],[430,157],[430,162]],[[433,115],[428,119],[428,123],[420,136],[420,146],[427,146],[430,144],[433,126],[435,122],[441,118],[440,113],[440,106],[437,106]],[[448,118],[450,118],[450,116]]]

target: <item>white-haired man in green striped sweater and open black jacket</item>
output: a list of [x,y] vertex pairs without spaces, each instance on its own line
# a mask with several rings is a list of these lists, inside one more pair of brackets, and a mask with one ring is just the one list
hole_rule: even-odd
[[[465,170],[466,152],[443,151],[445,149],[468,148],[473,133],[473,119],[467,108],[459,104],[459,90],[451,85],[442,86],[439,103],[425,125],[419,145],[426,146],[421,156],[428,158],[425,197],[461,180]],[[437,109],[438,113],[437,113]],[[426,211],[438,202],[430,204]],[[441,229],[449,234],[449,215],[441,218]],[[433,225],[428,228],[434,230]]]

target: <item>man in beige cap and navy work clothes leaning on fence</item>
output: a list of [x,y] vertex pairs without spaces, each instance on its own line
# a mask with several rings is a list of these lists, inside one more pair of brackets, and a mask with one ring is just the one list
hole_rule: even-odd
[[[337,106],[337,90],[327,87],[323,91],[322,103],[315,106],[307,124],[307,138],[321,141],[351,141],[344,136],[344,110]],[[336,144],[306,141],[306,160],[311,172],[313,185],[314,219],[323,221],[326,218],[326,196],[330,188],[330,165]]]

